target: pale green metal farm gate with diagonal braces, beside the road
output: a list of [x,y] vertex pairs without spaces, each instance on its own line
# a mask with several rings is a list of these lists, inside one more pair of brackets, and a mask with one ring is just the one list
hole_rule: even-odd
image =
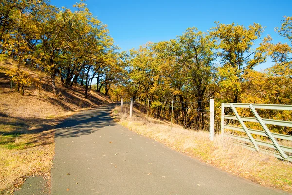
[[[234,115],[225,115],[227,113],[225,108],[230,108],[230,113]],[[240,116],[236,108],[249,109],[254,117]],[[292,162],[292,136],[273,133],[268,128],[269,125],[271,127],[276,125],[291,128],[292,121],[261,118],[256,109],[292,111],[292,105],[222,103],[221,134],[249,149],[272,153],[277,158]],[[247,127],[254,123],[260,124],[257,126],[263,130]],[[241,127],[238,125],[241,125]],[[229,132],[225,132],[225,130]],[[245,137],[243,137],[244,135]],[[288,141],[288,144],[286,143],[286,146],[281,145],[285,141]]]

